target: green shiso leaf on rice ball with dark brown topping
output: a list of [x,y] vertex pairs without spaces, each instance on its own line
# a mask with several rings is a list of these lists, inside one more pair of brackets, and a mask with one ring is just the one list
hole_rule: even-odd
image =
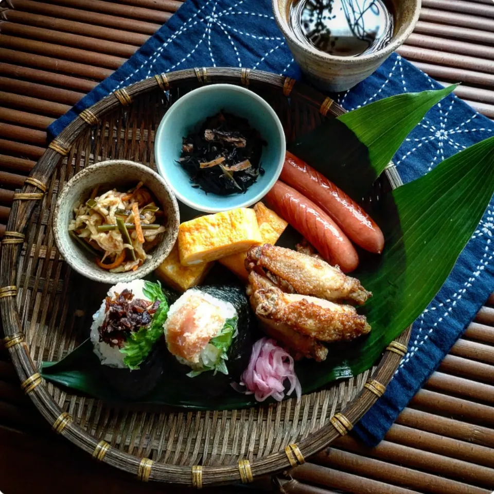
[[131,333],[125,346],[120,349],[125,355],[123,363],[132,370],[139,368],[139,365],[149,355],[153,345],[163,335],[163,324],[166,321],[169,308],[159,281],[158,283],[146,281],[143,291],[152,302],[160,301],[161,303],[154,313],[150,325]]

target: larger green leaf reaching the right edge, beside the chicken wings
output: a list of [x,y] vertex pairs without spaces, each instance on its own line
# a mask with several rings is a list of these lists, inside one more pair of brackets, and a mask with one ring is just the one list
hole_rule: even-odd
[[387,195],[376,211],[385,225],[385,249],[376,264],[362,263],[355,273],[373,292],[361,311],[373,329],[356,344],[333,347],[320,366],[301,368],[304,392],[348,377],[348,371],[356,376],[370,368],[382,349],[417,319],[453,269],[493,193],[490,137]]

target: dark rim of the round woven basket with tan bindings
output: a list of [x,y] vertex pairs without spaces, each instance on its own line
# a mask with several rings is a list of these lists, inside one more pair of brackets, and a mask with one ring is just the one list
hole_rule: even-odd
[[[111,447],[104,440],[98,441],[97,438],[79,427],[72,417],[59,407],[48,393],[30,357],[21,318],[15,304],[17,290],[14,286],[15,269],[12,269],[12,266],[17,265],[20,253],[17,248],[22,244],[24,228],[36,202],[43,197],[46,191],[45,184],[55,167],[68,154],[70,145],[83,130],[95,125],[101,115],[115,110],[119,105],[129,105],[136,96],[157,90],[167,91],[174,85],[187,82],[264,85],[279,90],[286,97],[296,94],[308,104],[319,108],[323,116],[338,116],[345,112],[338,103],[304,83],[289,77],[245,68],[202,67],[178,70],[155,75],[116,90],[93,104],[92,107],[82,111],[52,140],[48,149],[34,166],[29,178],[26,179],[22,190],[14,195],[0,256],[0,309],[5,333],[4,345],[9,349],[15,371],[22,382],[22,389],[29,394],[34,405],[52,425],[55,432],[64,435],[97,460],[133,473],[140,480],[161,480],[200,488],[206,484],[230,483],[239,480],[248,483],[258,475],[273,474],[294,467],[304,463],[305,458],[321,450],[340,435],[347,434],[384,393],[407,351],[411,326],[386,347],[375,372],[364,384],[357,397],[349,401],[341,412],[332,416],[321,429],[308,434],[298,444],[288,445],[285,450],[270,453],[252,461],[240,460],[237,465],[201,466],[153,463],[149,458],[139,458]],[[393,188],[401,185],[402,182],[394,164],[390,163],[384,173]]]

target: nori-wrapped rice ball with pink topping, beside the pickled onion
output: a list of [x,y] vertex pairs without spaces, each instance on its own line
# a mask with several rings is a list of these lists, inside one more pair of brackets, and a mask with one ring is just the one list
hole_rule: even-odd
[[222,374],[235,379],[249,360],[250,308],[243,288],[187,290],[170,307],[163,329],[170,353],[190,367],[189,377]]

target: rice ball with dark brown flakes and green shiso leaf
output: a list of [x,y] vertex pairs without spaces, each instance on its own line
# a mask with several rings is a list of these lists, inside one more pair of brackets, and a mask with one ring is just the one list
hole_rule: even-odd
[[91,326],[93,349],[101,364],[138,369],[163,335],[168,308],[159,283],[136,279],[110,288]]

